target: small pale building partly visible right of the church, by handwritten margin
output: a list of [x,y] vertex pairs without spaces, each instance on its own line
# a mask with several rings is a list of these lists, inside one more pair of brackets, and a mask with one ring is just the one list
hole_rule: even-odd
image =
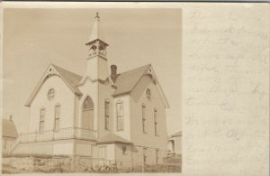
[[182,151],[182,131],[172,134],[168,138],[168,155],[180,155]]

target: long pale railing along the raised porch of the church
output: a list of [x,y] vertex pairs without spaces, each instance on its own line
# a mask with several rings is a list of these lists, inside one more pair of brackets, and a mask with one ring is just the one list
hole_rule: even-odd
[[84,139],[84,140],[95,140],[97,133],[94,130],[83,129],[78,127],[61,128],[58,130],[49,130],[43,132],[33,132],[21,134],[21,143],[31,142],[44,142],[53,141],[60,139]]

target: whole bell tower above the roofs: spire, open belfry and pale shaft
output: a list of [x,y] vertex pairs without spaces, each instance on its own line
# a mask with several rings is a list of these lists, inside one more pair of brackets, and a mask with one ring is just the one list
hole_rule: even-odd
[[94,17],[94,25],[91,36],[85,45],[88,47],[86,76],[93,80],[104,80],[109,76],[107,64],[107,51],[109,46],[104,42],[99,14]]

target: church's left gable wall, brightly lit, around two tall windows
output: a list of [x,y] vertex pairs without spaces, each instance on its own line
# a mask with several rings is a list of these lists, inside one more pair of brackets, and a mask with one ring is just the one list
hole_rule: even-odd
[[[55,90],[52,100],[48,99],[50,88]],[[55,106],[57,104],[60,105],[60,128],[73,126],[74,98],[74,93],[58,76],[51,76],[46,79],[31,102],[29,132],[39,131],[41,108],[45,108],[44,131],[53,130]]]

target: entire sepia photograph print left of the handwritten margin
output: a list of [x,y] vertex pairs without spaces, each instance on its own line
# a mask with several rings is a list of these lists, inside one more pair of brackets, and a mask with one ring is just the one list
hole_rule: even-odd
[[2,173],[182,172],[181,8],[4,8]]

